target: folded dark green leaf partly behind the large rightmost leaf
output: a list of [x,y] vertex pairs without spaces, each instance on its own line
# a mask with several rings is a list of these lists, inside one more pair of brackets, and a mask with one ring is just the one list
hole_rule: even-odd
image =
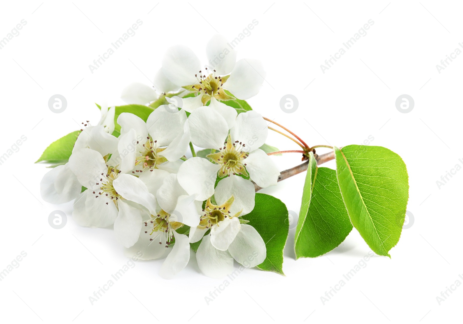
[[311,167],[307,169],[294,239],[296,260],[300,257],[314,258],[331,251],[352,230],[336,171],[318,168],[313,153],[309,155]]

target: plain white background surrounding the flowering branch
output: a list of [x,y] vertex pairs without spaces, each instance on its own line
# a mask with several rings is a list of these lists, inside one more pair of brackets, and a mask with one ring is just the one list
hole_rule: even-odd
[[[458,160],[463,158],[463,55],[440,74],[436,64],[463,41],[461,5],[428,0],[156,3],[1,4],[0,38],[21,19],[27,21],[19,36],[0,50],[0,155],[21,135],[27,137],[19,152],[0,165],[0,269],[21,251],[27,253],[19,267],[0,281],[1,321],[455,322],[463,287],[441,305],[436,297],[456,280],[463,282],[458,277],[463,274],[459,203],[463,172],[449,177],[440,189],[436,181],[455,165],[463,166]],[[92,74],[88,65],[137,19],[143,25],[136,34]],[[253,19],[258,25],[236,47],[238,59],[260,59],[267,70],[261,91],[249,100],[251,106],[309,145],[361,144],[371,135],[370,145],[400,154],[409,173],[407,210],[414,216],[413,225],[403,230],[390,251],[392,259],[369,260],[325,305],[320,297],[369,252],[355,229],[326,256],[298,261],[292,251],[292,229],[283,264],[286,277],[247,269],[209,305],[205,296],[224,280],[202,275],[194,254],[174,280],[158,276],[162,261],[138,261],[91,305],[89,296],[127,259],[112,230],[79,227],[72,220],[71,203],[54,206],[41,199],[39,183],[48,169],[33,162],[53,140],[80,129],[81,121],[98,122],[94,102],[119,105],[125,85],[151,85],[166,47],[185,44],[203,58],[213,34],[232,40]],[[374,25],[367,35],[322,73],[320,64],[369,19]],[[55,94],[68,102],[61,114],[48,108]],[[287,94],[299,100],[292,114],[280,108],[280,99]],[[403,94],[415,102],[407,114],[395,107]],[[275,133],[267,143],[282,150],[298,148]],[[282,170],[300,163],[298,154],[274,159]],[[262,192],[282,199],[297,213],[304,177],[295,176]],[[63,229],[50,227],[53,210],[68,215]]]

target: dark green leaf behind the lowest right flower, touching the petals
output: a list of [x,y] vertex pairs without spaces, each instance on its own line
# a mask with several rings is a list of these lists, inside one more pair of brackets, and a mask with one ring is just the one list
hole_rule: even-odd
[[261,235],[267,257],[258,265],[264,271],[283,273],[283,249],[289,231],[288,209],[280,199],[263,193],[256,194],[256,206],[244,216]]

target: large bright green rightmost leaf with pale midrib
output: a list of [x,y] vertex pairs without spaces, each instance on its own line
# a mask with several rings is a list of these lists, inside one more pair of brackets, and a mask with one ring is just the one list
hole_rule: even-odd
[[334,147],[339,188],[350,221],[369,247],[389,255],[400,239],[408,173],[399,155],[381,146]]

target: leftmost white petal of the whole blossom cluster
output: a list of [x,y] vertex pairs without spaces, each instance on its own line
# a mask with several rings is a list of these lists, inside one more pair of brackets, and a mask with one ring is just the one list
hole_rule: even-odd
[[40,182],[40,195],[47,203],[67,203],[81,193],[81,184],[69,165],[58,165],[45,173]]

